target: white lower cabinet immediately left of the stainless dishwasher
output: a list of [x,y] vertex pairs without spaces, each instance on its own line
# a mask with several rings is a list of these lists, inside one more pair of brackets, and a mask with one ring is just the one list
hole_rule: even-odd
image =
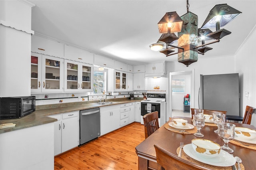
[[54,155],[79,145],[79,111],[51,115],[54,122]]

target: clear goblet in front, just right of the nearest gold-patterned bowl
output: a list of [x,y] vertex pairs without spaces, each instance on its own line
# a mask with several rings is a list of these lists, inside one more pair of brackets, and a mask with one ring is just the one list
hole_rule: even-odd
[[226,152],[234,152],[234,150],[228,146],[228,142],[234,139],[235,127],[236,125],[232,123],[218,123],[218,135],[225,142],[220,148]]

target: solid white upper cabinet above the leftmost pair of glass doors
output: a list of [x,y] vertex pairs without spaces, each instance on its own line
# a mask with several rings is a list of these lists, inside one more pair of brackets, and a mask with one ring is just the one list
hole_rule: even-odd
[[31,36],[31,51],[64,58],[64,44],[40,36]]

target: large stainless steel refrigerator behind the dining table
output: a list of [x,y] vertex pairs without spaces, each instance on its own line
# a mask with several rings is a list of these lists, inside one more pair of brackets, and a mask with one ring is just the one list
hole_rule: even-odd
[[200,75],[198,103],[200,109],[227,111],[239,116],[239,75]]

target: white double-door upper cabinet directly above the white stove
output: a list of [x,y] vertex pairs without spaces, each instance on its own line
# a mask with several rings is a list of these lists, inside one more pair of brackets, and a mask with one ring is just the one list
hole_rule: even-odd
[[162,77],[166,74],[165,72],[165,63],[164,62],[159,62],[159,63],[150,63],[146,64],[146,77]]

